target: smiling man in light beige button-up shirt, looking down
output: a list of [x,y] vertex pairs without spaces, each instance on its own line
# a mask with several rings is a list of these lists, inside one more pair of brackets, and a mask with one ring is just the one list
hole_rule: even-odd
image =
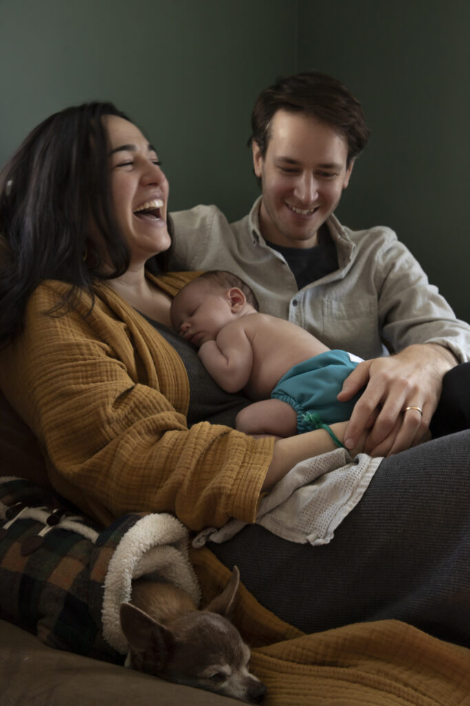
[[231,224],[215,206],[173,213],[171,266],[229,270],[252,287],[261,311],[364,358],[340,393],[347,400],[366,388],[345,443],[352,448],[369,426],[367,450],[388,455],[418,443],[433,415],[433,432],[442,433],[435,420],[459,407],[452,383],[458,392],[468,376],[457,364],[469,359],[470,326],[394,232],[352,231],[335,217],[368,138],[361,104],[340,81],[315,72],[280,78],[252,114],[261,197]]

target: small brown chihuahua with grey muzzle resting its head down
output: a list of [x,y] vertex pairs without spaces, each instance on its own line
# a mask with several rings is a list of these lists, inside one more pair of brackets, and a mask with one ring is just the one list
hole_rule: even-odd
[[249,647],[229,620],[239,582],[235,566],[223,592],[199,611],[178,587],[133,581],[131,602],[120,606],[120,626],[129,643],[126,666],[259,704],[266,686],[249,674]]

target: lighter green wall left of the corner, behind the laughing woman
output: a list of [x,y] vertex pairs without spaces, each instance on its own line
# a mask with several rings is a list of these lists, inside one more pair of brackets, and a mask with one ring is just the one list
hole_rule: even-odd
[[0,0],[0,163],[41,119],[112,100],[149,135],[171,208],[217,203],[230,217],[257,195],[252,104],[295,71],[285,0]]

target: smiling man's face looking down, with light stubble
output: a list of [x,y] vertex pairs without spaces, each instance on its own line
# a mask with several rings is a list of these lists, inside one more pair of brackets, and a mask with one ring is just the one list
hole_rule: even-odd
[[310,248],[349,183],[347,140],[311,116],[285,110],[274,114],[270,133],[264,159],[253,143],[261,233],[277,245]]

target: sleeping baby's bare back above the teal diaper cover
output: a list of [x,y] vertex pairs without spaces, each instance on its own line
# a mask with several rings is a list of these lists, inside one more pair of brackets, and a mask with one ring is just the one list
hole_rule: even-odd
[[252,344],[252,374],[245,392],[252,400],[265,400],[292,366],[328,349],[300,326],[265,313],[248,313],[238,321]]

